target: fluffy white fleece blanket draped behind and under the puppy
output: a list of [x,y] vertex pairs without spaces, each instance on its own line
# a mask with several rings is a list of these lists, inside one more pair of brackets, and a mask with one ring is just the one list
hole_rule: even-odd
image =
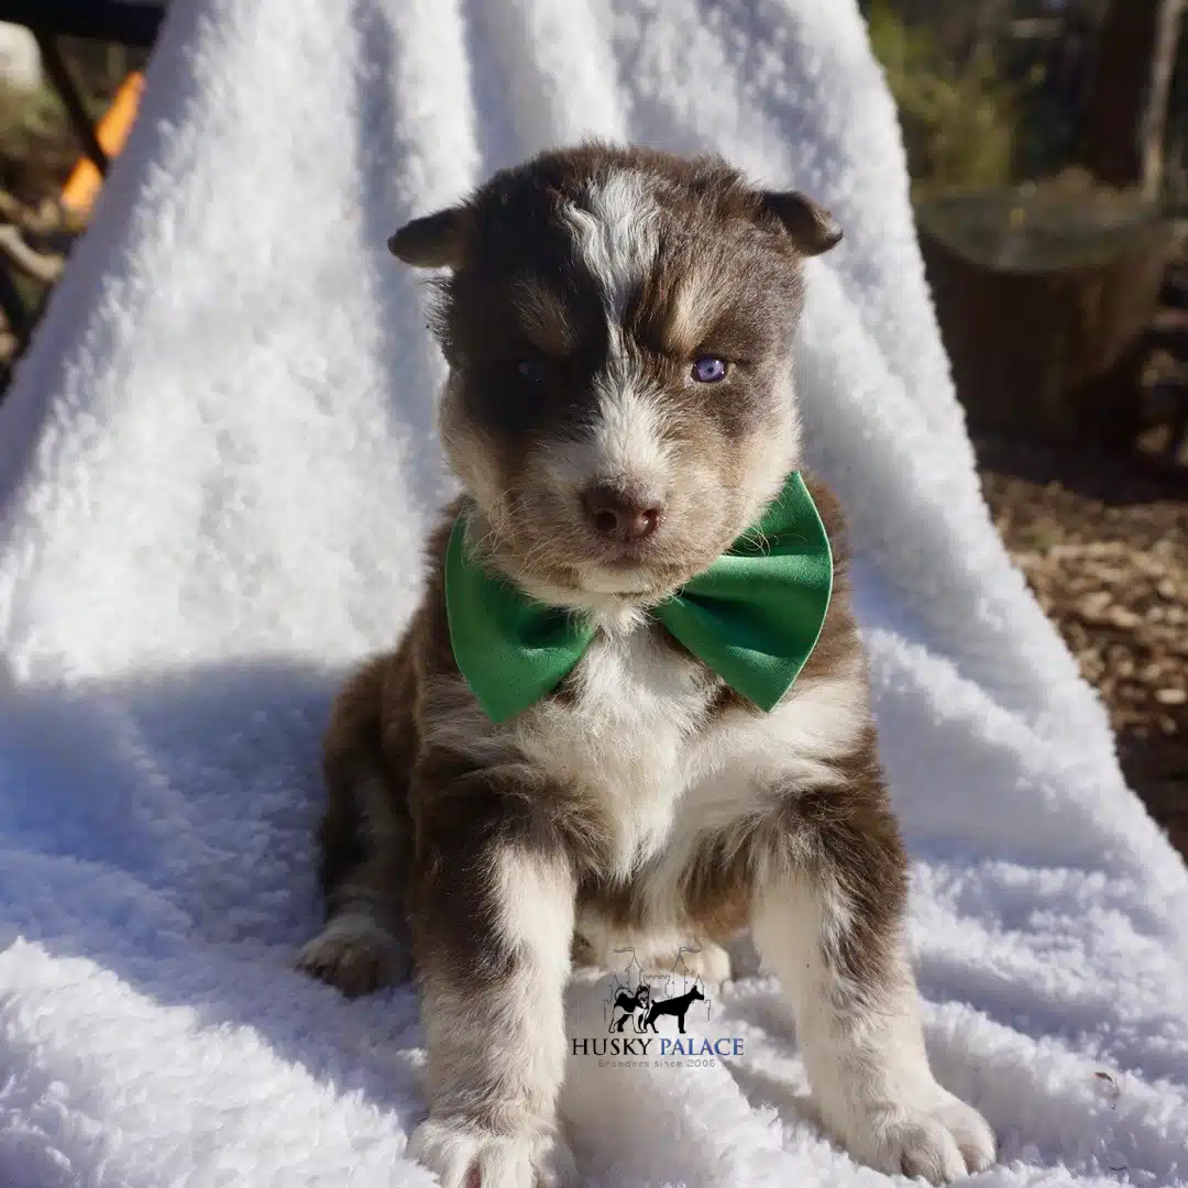
[[[980,1182],[1188,1183],[1188,878],[987,518],[852,0],[189,0],[0,413],[0,1184],[430,1183],[412,992],[289,971],[329,699],[450,489],[385,239],[589,132],[846,228],[800,385]],[[588,1182],[885,1182],[821,1137],[778,1004],[728,988],[714,1066],[575,1057]]]

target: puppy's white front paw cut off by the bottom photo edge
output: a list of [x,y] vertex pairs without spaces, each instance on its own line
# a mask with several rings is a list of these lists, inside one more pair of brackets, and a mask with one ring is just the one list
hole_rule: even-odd
[[409,1154],[437,1174],[442,1188],[570,1188],[577,1169],[555,1133],[495,1135],[461,1119],[430,1118]]

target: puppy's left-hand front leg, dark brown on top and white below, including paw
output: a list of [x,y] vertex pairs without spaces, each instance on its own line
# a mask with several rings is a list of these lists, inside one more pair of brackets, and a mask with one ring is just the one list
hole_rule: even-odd
[[410,903],[430,1117],[412,1152],[443,1188],[569,1183],[556,1102],[575,880],[548,790],[507,766],[421,792]]

